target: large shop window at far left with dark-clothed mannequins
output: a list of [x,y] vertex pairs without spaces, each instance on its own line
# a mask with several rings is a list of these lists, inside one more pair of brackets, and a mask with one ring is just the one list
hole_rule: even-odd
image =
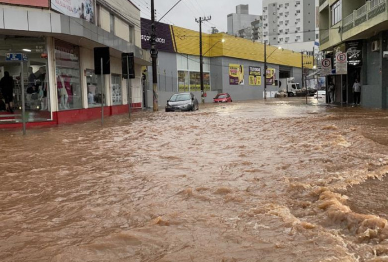
[[0,35],[0,123],[21,122],[22,89],[20,62],[7,61],[7,53],[24,53],[26,120],[51,119],[48,52],[43,37]]

